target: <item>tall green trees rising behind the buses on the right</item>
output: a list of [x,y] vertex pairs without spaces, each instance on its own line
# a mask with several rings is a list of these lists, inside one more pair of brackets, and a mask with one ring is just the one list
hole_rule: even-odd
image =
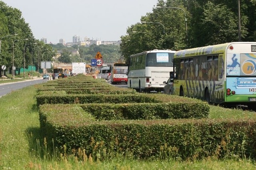
[[[153,8],[121,36],[120,49],[126,60],[152,49],[179,50],[238,41],[238,0],[158,0],[156,6],[169,8]],[[240,0],[244,42],[256,40],[254,16],[256,0]]]

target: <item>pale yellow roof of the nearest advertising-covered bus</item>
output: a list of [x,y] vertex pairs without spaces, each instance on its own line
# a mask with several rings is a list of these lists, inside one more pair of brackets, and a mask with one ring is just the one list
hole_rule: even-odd
[[230,45],[238,44],[238,43],[255,43],[255,42],[230,42],[230,43],[222,43],[222,44],[216,44],[216,45],[208,45],[204,47],[196,47],[191,49],[183,49],[183,50],[176,51],[176,53],[174,54],[174,58],[224,53]]

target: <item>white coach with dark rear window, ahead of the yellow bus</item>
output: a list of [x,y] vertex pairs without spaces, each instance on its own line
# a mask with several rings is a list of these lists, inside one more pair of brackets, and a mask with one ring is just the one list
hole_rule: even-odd
[[131,55],[127,86],[139,92],[163,91],[163,82],[169,79],[170,71],[173,71],[175,52],[154,49]]

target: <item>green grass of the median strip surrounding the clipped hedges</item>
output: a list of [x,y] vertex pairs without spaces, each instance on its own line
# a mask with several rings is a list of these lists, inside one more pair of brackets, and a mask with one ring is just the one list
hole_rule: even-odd
[[[36,88],[26,87],[0,98],[0,169],[85,169],[85,170],[141,170],[141,169],[255,169],[250,160],[214,160],[178,162],[174,160],[113,160],[94,162],[88,156],[78,160],[51,150],[41,136]],[[255,118],[255,112],[211,106],[211,119]],[[81,151],[82,156],[83,152]]]

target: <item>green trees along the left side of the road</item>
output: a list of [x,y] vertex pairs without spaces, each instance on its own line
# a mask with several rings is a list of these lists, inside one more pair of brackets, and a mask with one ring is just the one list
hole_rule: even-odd
[[[24,67],[25,56],[25,68],[33,63],[38,69],[38,61],[42,61],[43,53],[44,61],[51,61],[55,52],[50,45],[34,38],[20,10],[0,1],[0,66],[6,65],[7,69],[12,69],[14,62],[14,67],[20,74],[20,68]],[[0,67],[0,76],[1,73]]]

